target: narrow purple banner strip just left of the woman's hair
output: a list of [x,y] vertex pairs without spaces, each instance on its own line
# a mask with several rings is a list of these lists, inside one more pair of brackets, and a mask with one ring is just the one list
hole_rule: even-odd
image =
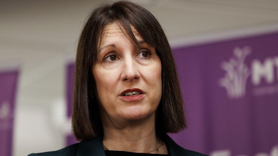
[[[74,86],[74,63],[68,63],[66,67],[66,102],[67,102],[67,116],[71,119],[72,100],[73,100],[73,86]],[[67,134],[66,145],[77,143],[73,134]]]

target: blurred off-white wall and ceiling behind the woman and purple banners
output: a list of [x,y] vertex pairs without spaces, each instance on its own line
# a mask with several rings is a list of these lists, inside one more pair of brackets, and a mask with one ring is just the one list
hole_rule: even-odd
[[[0,1],[0,64],[20,65],[13,154],[64,147],[65,64],[97,1]],[[111,2],[111,1],[108,1]],[[277,0],[136,0],[173,46],[278,31]],[[57,125],[61,125],[60,127]],[[66,127],[66,128],[65,128]]]

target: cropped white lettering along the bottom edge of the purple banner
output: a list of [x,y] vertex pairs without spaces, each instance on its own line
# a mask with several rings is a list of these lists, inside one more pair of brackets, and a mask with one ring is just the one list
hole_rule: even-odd
[[[225,150],[218,150],[218,151],[212,151],[210,153],[210,156],[231,156],[232,152],[228,149]],[[237,155],[237,156],[248,156],[248,155]],[[278,156],[278,145],[275,145],[270,153],[266,153],[266,152],[260,152],[255,154],[254,156]]]

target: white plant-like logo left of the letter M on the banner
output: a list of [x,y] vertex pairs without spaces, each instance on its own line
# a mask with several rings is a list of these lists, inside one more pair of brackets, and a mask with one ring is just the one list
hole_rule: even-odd
[[226,71],[224,78],[219,80],[219,85],[226,88],[229,98],[239,98],[245,95],[246,80],[250,76],[250,71],[244,60],[251,53],[251,48],[246,46],[242,49],[236,47],[234,55],[229,62],[223,61],[221,67]]

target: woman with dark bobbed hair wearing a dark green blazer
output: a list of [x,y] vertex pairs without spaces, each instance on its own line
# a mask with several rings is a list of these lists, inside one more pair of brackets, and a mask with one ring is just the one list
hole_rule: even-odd
[[81,142],[31,155],[202,155],[166,134],[186,128],[176,67],[160,24],[134,3],[91,13],[73,93],[72,130]]

